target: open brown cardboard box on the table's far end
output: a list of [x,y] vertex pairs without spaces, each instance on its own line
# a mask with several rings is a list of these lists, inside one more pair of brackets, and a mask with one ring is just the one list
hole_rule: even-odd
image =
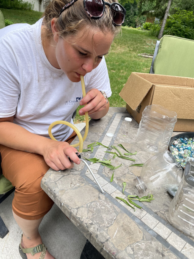
[[194,131],[194,78],[132,72],[119,95],[138,123],[147,105],[158,104],[177,113],[174,131]]

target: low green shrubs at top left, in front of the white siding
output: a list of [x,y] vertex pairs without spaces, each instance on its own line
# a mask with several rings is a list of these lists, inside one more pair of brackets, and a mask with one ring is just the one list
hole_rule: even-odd
[[24,2],[22,0],[1,0],[0,8],[17,9],[17,10],[33,10],[34,4]]

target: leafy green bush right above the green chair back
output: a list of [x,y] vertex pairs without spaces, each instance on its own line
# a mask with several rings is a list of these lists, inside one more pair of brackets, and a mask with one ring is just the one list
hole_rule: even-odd
[[192,11],[181,10],[166,21],[163,35],[173,35],[194,40],[194,15]]

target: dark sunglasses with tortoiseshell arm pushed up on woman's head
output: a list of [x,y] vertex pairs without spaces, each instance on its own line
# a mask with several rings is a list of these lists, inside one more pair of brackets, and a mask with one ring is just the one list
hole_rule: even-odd
[[[59,12],[59,15],[61,15],[61,13],[65,9],[69,8],[76,1],[78,0],[71,0],[69,3],[63,6],[61,11]],[[87,14],[94,19],[99,19],[103,15],[103,12],[105,11],[105,5],[108,5],[110,7],[114,25],[120,26],[124,22],[126,14],[126,10],[121,4],[110,4],[108,2],[105,2],[104,0],[84,0],[84,7]]]

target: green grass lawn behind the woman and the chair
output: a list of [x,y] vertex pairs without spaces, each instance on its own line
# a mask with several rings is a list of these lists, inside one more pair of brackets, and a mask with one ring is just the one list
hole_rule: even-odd
[[[42,15],[37,11],[22,11],[1,9],[4,19],[13,23],[34,24]],[[153,44],[150,43],[152,39]],[[106,56],[112,96],[109,98],[111,107],[125,107],[126,103],[118,95],[126,83],[131,72],[149,73],[152,59],[138,56],[138,54],[153,54],[155,40],[148,35],[148,31],[136,28],[122,27],[122,34],[115,38],[109,54]],[[78,107],[78,110],[81,106]],[[74,121],[83,121],[84,117],[78,112]]]

